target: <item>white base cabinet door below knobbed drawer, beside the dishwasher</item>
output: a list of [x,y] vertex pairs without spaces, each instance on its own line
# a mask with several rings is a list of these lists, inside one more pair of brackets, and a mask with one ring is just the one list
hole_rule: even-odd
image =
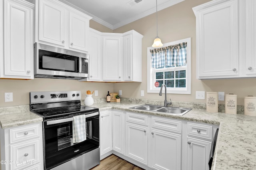
[[212,142],[187,138],[187,170],[209,170],[209,158]]

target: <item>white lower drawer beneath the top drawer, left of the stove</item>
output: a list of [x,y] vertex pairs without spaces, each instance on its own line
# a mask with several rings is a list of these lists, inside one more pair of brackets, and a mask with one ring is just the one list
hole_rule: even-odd
[[39,139],[10,145],[10,160],[16,161],[11,164],[11,169],[30,167],[40,162]]

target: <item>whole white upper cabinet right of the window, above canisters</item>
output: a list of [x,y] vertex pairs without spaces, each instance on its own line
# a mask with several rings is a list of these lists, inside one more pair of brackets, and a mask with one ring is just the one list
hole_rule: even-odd
[[197,78],[255,77],[255,2],[212,0],[193,10]]

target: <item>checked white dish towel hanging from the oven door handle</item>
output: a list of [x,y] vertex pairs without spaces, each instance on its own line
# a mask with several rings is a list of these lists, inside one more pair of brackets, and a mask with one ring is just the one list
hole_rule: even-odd
[[73,117],[73,143],[86,140],[86,118],[85,115]]

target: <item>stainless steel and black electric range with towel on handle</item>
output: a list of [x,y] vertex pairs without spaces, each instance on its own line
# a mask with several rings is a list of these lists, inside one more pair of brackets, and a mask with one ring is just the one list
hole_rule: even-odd
[[45,170],[88,170],[100,164],[99,110],[80,100],[80,91],[30,92],[30,111],[44,120]]

